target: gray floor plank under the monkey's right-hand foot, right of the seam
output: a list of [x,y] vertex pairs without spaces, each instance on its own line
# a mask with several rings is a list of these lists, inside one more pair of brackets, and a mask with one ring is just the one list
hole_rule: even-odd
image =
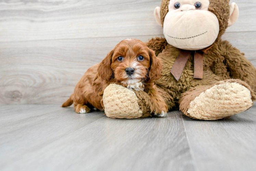
[[183,116],[190,148],[199,171],[256,170],[256,105],[218,121]]

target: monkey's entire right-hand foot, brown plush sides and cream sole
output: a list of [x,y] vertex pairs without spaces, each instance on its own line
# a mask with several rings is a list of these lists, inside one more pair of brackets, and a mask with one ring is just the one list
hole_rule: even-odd
[[188,117],[201,120],[226,118],[252,107],[255,94],[241,80],[219,81],[182,94],[180,110]]

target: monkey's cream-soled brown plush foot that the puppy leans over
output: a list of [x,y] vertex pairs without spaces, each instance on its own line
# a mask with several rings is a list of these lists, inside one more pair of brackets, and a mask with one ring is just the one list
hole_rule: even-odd
[[103,93],[105,114],[110,118],[145,118],[153,111],[150,96],[140,90],[132,91],[117,84],[110,84]]

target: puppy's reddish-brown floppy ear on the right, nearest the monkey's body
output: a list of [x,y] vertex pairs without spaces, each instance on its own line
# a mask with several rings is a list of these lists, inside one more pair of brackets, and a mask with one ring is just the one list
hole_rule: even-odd
[[155,52],[151,49],[148,49],[150,56],[150,70],[149,70],[149,78],[151,80],[157,80],[162,76],[163,66],[159,58],[156,57]]

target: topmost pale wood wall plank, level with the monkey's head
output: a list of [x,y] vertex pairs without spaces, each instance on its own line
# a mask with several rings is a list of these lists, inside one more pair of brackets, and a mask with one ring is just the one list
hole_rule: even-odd
[[[227,32],[256,31],[256,1],[235,0],[240,16]],[[0,42],[159,35],[161,0],[0,1]]]

